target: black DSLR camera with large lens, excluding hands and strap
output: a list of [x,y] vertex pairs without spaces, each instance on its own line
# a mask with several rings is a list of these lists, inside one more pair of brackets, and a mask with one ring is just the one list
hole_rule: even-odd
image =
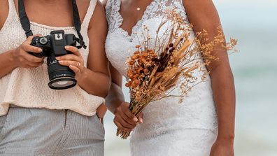
[[54,90],[64,90],[74,87],[77,84],[75,73],[68,66],[62,66],[56,57],[71,52],[64,49],[64,46],[76,46],[74,34],[64,34],[63,30],[51,31],[48,36],[34,36],[31,45],[42,48],[41,53],[30,52],[36,57],[47,57],[49,87]]

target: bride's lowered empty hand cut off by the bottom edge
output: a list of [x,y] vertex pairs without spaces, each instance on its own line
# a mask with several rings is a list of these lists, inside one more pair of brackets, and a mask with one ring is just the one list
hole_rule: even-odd
[[217,139],[213,143],[210,156],[234,156],[234,141]]

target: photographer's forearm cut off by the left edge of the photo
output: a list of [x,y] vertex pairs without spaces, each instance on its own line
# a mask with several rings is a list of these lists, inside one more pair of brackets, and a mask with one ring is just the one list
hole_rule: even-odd
[[6,76],[17,67],[13,59],[13,52],[14,50],[10,50],[0,54],[0,78]]

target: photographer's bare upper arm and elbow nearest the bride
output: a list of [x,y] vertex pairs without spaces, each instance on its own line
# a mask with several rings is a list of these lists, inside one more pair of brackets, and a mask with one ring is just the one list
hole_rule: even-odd
[[[92,73],[97,73],[90,76],[94,80],[94,85],[90,86],[96,92],[96,88],[102,97],[108,95],[108,90],[111,86],[111,77],[108,69],[108,59],[106,58],[105,43],[108,26],[106,22],[105,10],[98,1],[94,10],[94,15],[90,21],[88,35],[90,38],[90,54],[88,55],[87,68]],[[89,71],[87,71],[89,73]],[[82,82],[83,83],[83,82]],[[80,84],[80,83],[79,83]],[[83,83],[83,87],[90,83]],[[99,90],[101,88],[101,90]]]

